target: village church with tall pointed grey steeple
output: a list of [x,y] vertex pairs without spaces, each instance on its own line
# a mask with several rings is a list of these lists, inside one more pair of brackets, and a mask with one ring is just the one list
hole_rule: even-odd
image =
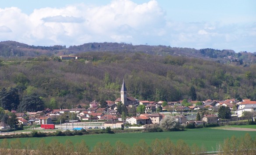
[[137,99],[134,99],[133,97],[127,97],[127,89],[125,87],[124,80],[120,91],[120,95],[120,98],[115,100],[116,104],[118,102],[121,102],[122,104],[124,104],[124,106],[136,106],[137,104],[139,104],[139,101]]

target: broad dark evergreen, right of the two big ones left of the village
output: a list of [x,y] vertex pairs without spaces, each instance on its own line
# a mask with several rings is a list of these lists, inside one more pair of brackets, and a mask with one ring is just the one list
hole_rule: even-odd
[[32,95],[25,96],[21,104],[18,106],[19,112],[37,112],[44,109],[43,100],[39,98],[39,95],[33,93]]

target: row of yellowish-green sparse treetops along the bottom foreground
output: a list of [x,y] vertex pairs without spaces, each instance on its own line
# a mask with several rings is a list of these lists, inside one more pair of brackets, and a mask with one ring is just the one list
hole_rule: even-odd
[[[227,138],[223,143],[217,144],[218,155],[256,155],[256,141],[249,134],[243,137]],[[3,155],[202,155],[206,154],[204,146],[193,144],[189,146],[183,140],[176,144],[170,139],[155,139],[150,144],[141,140],[132,146],[117,141],[111,145],[109,141],[98,142],[93,148],[89,148],[84,140],[73,143],[66,140],[60,143],[56,139],[46,143],[27,140],[21,143],[20,139],[8,142],[4,139],[0,144],[0,153]]]

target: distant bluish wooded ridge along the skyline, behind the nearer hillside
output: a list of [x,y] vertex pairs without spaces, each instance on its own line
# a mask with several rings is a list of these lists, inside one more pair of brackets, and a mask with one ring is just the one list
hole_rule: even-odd
[[77,55],[84,52],[113,52],[113,53],[146,53],[157,56],[185,56],[204,60],[213,60],[219,63],[247,66],[256,63],[256,53],[241,51],[235,53],[230,49],[191,49],[170,46],[132,45],[124,42],[93,42],[79,46],[29,46],[14,41],[0,42],[0,59],[26,60],[35,56],[62,56]]

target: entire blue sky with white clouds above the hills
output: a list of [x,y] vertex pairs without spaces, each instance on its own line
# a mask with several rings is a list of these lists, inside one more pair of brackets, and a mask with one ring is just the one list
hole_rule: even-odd
[[256,0],[0,0],[0,41],[256,52]]

